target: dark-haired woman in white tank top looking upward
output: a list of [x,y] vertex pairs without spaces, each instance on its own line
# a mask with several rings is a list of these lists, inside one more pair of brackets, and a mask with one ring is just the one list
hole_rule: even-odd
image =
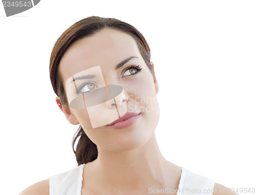
[[114,18],[82,19],[58,38],[50,78],[60,110],[80,124],[78,167],[20,194],[236,194],[161,155],[150,57],[142,34]]

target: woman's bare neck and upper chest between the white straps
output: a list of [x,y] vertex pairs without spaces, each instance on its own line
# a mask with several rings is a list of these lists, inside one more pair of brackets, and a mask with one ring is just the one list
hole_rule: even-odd
[[87,164],[82,194],[147,194],[150,187],[178,189],[180,175],[181,168],[163,158],[153,136],[141,148],[125,154],[104,152]]

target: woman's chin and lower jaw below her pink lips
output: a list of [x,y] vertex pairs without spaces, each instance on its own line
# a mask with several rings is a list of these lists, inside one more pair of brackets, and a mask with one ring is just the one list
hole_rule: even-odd
[[106,126],[88,130],[89,138],[99,147],[109,151],[127,152],[144,146],[155,135],[159,115],[145,115],[134,124],[115,129]]

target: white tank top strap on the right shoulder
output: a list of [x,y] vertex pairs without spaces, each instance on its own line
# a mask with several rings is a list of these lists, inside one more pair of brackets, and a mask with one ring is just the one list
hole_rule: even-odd
[[212,195],[215,182],[182,167],[177,195]]

